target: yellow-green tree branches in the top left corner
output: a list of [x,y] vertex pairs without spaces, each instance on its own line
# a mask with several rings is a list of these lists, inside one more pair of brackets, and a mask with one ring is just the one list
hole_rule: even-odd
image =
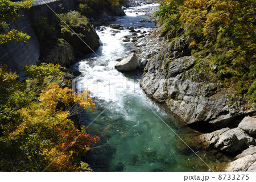
[[22,18],[19,13],[20,9],[30,9],[32,0],[13,2],[10,0],[0,1],[0,44],[9,42],[11,40],[26,42],[30,36],[18,30],[8,30],[7,22],[14,22],[17,18]]

